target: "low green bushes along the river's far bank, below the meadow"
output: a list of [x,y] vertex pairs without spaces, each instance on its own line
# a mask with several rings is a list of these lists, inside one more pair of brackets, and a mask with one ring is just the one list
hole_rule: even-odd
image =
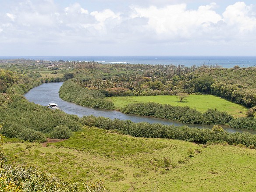
[[[94,90],[92,88],[83,88],[82,85],[77,84],[74,80],[68,80],[60,88],[60,98],[70,102],[75,102],[82,106],[89,106],[94,108],[114,109],[114,103],[107,100],[106,96],[101,90]],[[137,114],[144,116],[153,116],[163,119],[180,121],[181,123],[189,124],[229,124],[234,119],[227,112],[220,112],[216,109],[208,109],[201,113],[196,109],[179,106],[171,106],[159,103],[130,103],[121,109],[126,114]],[[247,121],[247,118],[244,119]],[[249,121],[249,119],[248,119]],[[234,122],[234,121],[233,121]],[[237,126],[234,123],[231,127],[246,128],[254,130],[253,126]]]

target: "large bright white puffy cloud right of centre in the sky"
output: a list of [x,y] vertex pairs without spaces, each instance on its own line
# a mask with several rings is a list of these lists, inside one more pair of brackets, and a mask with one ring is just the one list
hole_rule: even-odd
[[170,5],[164,8],[151,6],[149,8],[132,7],[133,18],[148,18],[147,30],[155,31],[156,36],[164,39],[198,37],[203,28],[216,24],[221,16],[212,8],[216,4],[200,6],[198,10],[187,10],[186,4]]

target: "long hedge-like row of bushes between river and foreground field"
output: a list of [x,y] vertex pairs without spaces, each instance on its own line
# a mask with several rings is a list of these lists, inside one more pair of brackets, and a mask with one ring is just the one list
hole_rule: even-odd
[[117,130],[125,135],[134,137],[150,137],[178,139],[189,142],[206,144],[207,142],[227,142],[228,144],[256,145],[256,135],[244,133],[229,133],[215,129],[189,128],[187,126],[175,127],[174,125],[149,124],[146,122],[133,123],[126,120],[110,120],[105,117],[84,116],[80,119],[83,125],[95,126],[106,130]]

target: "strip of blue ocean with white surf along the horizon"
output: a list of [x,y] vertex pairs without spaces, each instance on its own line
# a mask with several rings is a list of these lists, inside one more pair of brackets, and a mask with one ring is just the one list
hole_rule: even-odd
[[256,56],[1,56],[0,60],[18,58],[52,61],[95,61],[103,64],[174,64],[176,66],[184,65],[186,67],[192,65],[218,65],[223,68],[233,68],[235,65],[238,65],[241,68],[256,66]]

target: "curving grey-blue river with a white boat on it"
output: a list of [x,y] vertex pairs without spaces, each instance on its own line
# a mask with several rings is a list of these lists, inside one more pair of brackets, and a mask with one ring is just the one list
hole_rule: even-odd
[[[49,103],[56,103],[60,110],[63,110],[67,114],[75,114],[79,117],[93,115],[96,117],[109,117],[110,119],[121,119],[121,120],[131,120],[135,123],[138,122],[148,122],[148,123],[161,123],[175,126],[183,126],[187,125],[188,127],[196,127],[196,128],[212,128],[212,125],[204,125],[204,124],[183,124],[177,121],[170,121],[166,119],[159,119],[155,117],[145,117],[139,115],[130,115],[123,114],[116,110],[103,110],[103,109],[93,109],[89,107],[83,107],[80,105],[76,105],[75,103],[67,102],[59,97],[59,89],[63,82],[57,83],[44,83],[31,89],[24,96],[30,102],[47,106]],[[224,130],[228,132],[243,132],[241,129],[234,129],[228,126],[223,126]],[[247,132],[256,134],[256,131],[246,130]]]

